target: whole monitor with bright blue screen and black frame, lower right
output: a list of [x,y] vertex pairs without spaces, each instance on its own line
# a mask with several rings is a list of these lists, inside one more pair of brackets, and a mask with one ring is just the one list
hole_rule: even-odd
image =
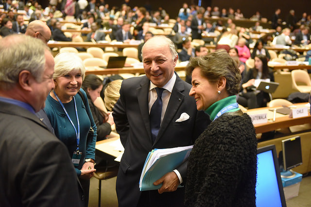
[[275,145],[257,149],[257,207],[286,207]]

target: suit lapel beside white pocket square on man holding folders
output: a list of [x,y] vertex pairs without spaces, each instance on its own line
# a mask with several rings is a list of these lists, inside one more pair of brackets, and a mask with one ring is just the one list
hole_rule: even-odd
[[[157,134],[157,137],[155,139],[155,143],[161,136],[163,135],[164,131],[172,121],[173,117],[175,116],[180,104],[183,102],[183,99],[185,95],[182,93],[185,90],[183,81],[178,77],[176,74],[176,82],[172,90],[172,94],[170,97],[169,104],[167,105],[163,121],[161,123],[161,127],[159,130],[159,133]],[[154,143],[154,144],[155,144]]]

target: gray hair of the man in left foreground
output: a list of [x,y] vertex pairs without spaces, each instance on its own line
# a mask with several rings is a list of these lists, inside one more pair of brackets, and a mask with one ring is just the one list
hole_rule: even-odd
[[0,39],[0,87],[7,89],[18,82],[18,74],[28,70],[41,82],[45,51],[50,49],[41,39],[27,35],[9,35]]

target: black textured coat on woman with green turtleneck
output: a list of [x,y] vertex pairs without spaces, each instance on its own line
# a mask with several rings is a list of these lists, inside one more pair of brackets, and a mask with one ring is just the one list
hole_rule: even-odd
[[256,206],[255,129],[247,114],[227,114],[195,141],[188,161],[186,206]]

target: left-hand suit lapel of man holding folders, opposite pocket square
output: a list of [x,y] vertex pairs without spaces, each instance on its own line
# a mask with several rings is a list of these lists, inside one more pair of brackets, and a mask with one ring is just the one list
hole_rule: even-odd
[[148,107],[149,82],[150,81],[147,77],[143,79],[140,83],[140,87],[137,88],[137,98],[142,121],[145,124],[149,139],[152,140]]

